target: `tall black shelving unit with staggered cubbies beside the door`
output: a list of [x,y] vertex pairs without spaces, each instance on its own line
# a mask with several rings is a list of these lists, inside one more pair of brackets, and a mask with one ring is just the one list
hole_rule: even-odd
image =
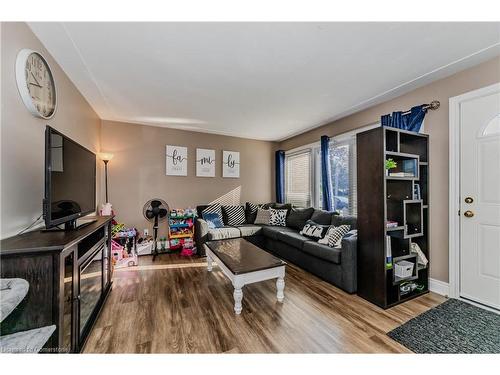
[[[429,259],[428,153],[426,134],[380,127],[357,135],[358,295],[382,308],[429,290],[430,262],[421,267],[410,252],[411,243],[417,243]],[[388,173],[389,158],[397,167]],[[420,197],[414,196],[416,184]],[[387,228],[388,221],[397,226]],[[392,267],[386,264],[389,241]],[[398,278],[394,264],[403,260],[414,263],[413,274]],[[422,288],[402,292],[405,282]]]

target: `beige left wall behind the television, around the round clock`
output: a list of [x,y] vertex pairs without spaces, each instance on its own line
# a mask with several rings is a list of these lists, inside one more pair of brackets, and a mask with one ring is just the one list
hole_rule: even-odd
[[[54,74],[58,107],[43,120],[24,106],[15,80],[15,61],[23,48],[40,52]],[[87,101],[25,23],[1,24],[1,233],[16,234],[42,212],[45,125],[50,125],[94,152],[100,148],[101,122]],[[100,197],[101,162],[97,197]],[[99,203],[99,199],[97,199]]]

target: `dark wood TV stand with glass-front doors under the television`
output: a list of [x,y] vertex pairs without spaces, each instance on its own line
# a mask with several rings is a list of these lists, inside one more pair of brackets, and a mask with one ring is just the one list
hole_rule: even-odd
[[42,352],[80,352],[111,290],[111,216],[71,231],[24,233],[0,241],[2,278],[22,278],[24,301],[1,335],[56,325]]

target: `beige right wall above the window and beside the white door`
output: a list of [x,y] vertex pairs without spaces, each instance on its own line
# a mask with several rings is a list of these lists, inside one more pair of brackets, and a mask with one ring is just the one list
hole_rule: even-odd
[[500,58],[464,70],[416,89],[406,95],[334,121],[280,143],[289,150],[318,141],[322,135],[334,136],[380,120],[380,116],[414,105],[439,100],[441,108],[429,111],[425,132],[430,139],[430,249],[431,277],[448,282],[448,99],[500,82]]

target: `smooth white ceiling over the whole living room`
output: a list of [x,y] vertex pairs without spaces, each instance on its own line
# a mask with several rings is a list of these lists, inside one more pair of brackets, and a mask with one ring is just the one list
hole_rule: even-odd
[[500,54],[500,23],[29,25],[102,119],[265,140]]

